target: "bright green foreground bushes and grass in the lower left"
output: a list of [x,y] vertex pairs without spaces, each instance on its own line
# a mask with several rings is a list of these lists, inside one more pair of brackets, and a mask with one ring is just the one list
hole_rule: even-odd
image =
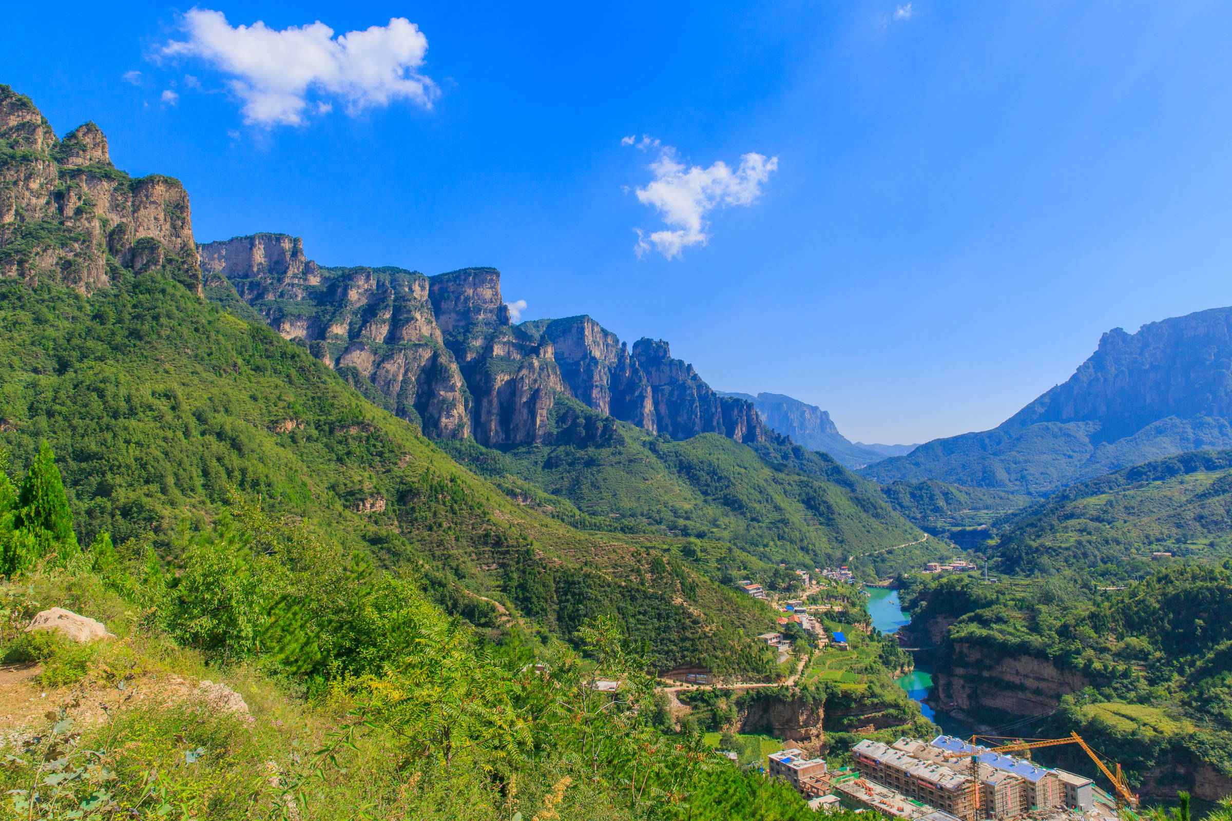
[[[665,723],[644,643],[611,615],[585,619],[580,652],[517,625],[494,643],[429,602],[423,577],[250,497],[181,535],[175,569],[106,532],[83,550],[46,443],[16,487],[0,470],[0,661],[39,662],[46,699],[42,726],[0,741],[0,817],[811,815]],[[22,631],[48,601],[116,639]],[[176,695],[206,675],[245,702]]]

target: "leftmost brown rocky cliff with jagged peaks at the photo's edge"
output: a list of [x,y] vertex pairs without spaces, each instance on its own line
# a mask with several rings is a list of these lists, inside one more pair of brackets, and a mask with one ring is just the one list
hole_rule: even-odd
[[28,97],[0,85],[0,276],[89,294],[111,283],[108,262],[161,267],[200,293],[184,186],[118,171],[94,123],[58,139]]

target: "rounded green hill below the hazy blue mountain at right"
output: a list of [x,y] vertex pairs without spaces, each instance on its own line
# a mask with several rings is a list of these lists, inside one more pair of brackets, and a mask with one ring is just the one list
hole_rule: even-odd
[[[1000,524],[988,548],[1002,571],[1126,579],[1153,553],[1232,553],[1232,451],[1199,451],[1068,487]],[[994,566],[997,566],[994,565]]]

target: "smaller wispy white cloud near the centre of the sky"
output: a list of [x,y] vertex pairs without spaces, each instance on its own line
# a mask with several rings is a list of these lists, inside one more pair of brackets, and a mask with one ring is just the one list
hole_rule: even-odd
[[659,212],[668,229],[650,234],[637,229],[633,250],[638,256],[657,250],[670,260],[686,247],[705,245],[710,240],[706,214],[718,207],[752,206],[777,167],[779,158],[754,153],[743,155],[734,171],[721,160],[708,169],[690,167],[676,159],[674,148],[663,148],[649,166],[654,180],[636,193],[639,202]]

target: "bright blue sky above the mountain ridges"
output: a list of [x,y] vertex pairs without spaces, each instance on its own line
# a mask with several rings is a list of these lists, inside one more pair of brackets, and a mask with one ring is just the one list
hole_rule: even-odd
[[[992,427],[1103,331],[1232,304],[1230,4],[197,9],[227,31],[21,4],[0,82],[181,178],[201,241],[492,265],[526,319],[669,340],[713,386],[818,404],[851,439]],[[392,18],[416,28],[227,33]]]

